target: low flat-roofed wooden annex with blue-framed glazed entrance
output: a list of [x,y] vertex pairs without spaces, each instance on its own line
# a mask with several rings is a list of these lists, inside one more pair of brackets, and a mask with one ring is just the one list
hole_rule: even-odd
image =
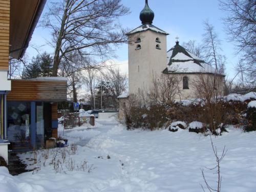
[[39,77],[12,80],[7,95],[7,137],[12,150],[44,147],[57,137],[57,102],[67,100],[67,80]]

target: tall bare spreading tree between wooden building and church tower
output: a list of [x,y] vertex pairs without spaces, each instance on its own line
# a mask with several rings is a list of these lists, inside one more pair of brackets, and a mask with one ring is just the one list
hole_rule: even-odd
[[[121,0],[54,1],[44,15],[41,26],[50,28],[54,48],[53,76],[57,76],[63,59],[70,52],[81,56],[113,53],[113,45],[126,42],[125,31],[117,24],[118,17],[129,13]],[[67,62],[66,62],[67,64]]]

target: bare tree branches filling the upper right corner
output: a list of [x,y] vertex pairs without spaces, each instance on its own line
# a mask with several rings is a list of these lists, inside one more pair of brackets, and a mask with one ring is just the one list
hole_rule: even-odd
[[220,0],[220,7],[228,13],[224,18],[229,40],[236,42],[241,53],[239,65],[244,70],[243,80],[256,86],[256,3],[254,0]]

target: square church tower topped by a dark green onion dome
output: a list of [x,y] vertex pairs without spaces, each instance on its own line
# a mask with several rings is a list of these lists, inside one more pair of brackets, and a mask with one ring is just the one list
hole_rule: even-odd
[[153,77],[166,68],[168,33],[152,25],[154,12],[148,6],[140,12],[142,25],[126,35],[129,38],[129,94],[152,87]]

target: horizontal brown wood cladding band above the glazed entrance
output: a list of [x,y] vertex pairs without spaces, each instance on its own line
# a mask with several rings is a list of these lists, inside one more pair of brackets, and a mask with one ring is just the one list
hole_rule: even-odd
[[[67,100],[67,81],[12,80],[8,101],[48,101]],[[57,114],[57,112],[56,112]]]

